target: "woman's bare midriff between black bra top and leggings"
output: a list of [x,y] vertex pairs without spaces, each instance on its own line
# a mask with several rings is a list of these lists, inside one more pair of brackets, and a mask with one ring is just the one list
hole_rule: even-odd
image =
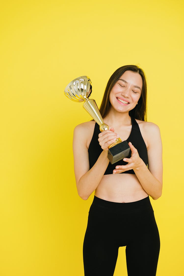
[[134,202],[148,197],[135,174],[106,174],[95,196],[112,202]]

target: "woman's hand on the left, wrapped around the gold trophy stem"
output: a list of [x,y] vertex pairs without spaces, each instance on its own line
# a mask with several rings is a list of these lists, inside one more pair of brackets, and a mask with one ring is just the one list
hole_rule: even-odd
[[103,150],[108,151],[108,146],[110,146],[113,142],[119,138],[119,135],[114,132],[114,128],[110,128],[110,130],[104,130],[98,134],[98,142]]

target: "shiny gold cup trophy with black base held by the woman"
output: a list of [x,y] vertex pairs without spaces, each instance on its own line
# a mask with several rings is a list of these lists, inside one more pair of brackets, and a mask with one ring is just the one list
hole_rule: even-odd
[[[65,95],[74,102],[84,102],[83,108],[100,126],[100,131],[109,129],[109,126],[104,123],[100,111],[94,99],[88,99],[92,92],[92,83],[88,76],[81,76],[71,81],[65,88]],[[111,164],[127,157],[130,152],[130,147],[127,141],[118,138],[108,147],[108,159]]]

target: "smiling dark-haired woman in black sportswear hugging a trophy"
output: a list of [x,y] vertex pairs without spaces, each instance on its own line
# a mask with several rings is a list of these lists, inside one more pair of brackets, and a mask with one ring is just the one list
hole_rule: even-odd
[[[149,200],[162,193],[162,142],[146,122],[146,79],[135,65],[117,69],[108,81],[100,113],[109,130],[95,121],[74,129],[74,172],[79,196],[95,191],[84,238],[85,276],[112,276],[119,246],[126,246],[128,276],[156,275],[160,240]],[[130,154],[115,164],[108,146],[127,140]],[[148,165],[148,166],[147,166]]]

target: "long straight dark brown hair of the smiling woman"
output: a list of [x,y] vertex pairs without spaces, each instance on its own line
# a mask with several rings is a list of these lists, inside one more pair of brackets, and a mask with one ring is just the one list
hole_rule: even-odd
[[141,121],[147,121],[146,77],[143,70],[136,65],[122,66],[112,74],[112,76],[110,77],[107,83],[107,86],[103,95],[102,103],[100,106],[100,114],[102,115],[102,118],[105,118],[110,112],[111,103],[109,101],[109,94],[111,92],[111,89],[115,85],[115,83],[118,81],[118,79],[123,75],[125,71],[132,71],[132,72],[138,73],[142,78],[142,91],[141,91],[140,99],[138,100],[138,104],[132,110],[129,111],[129,115],[135,119],[138,119]]

